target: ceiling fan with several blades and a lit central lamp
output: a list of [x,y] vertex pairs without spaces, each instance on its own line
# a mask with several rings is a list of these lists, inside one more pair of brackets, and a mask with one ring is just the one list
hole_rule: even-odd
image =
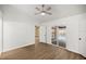
[[40,14],[40,15],[46,15],[46,14],[52,15],[52,13],[49,12],[51,10],[51,7],[46,9],[45,4],[41,4],[41,8],[36,7],[35,9],[38,11],[38,13],[35,13],[35,15],[38,15],[38,14]]

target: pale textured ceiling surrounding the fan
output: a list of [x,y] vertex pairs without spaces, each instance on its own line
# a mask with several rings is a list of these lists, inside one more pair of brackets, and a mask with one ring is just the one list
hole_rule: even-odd
[[[47,7],[51,7],[52,15],[35,15],[36,7],[40,8],[40,4],[10,4],[10,5],[1,5],[4,10],[9,10],[11,13],[20,12],[26,14],[28,17],[38,21],[38,22],[47,22],[57,18],[62,18],[71,15],[82,14],[86,12],[85,4],[46,4]],[[8,9],[7,9],[8,8]]]

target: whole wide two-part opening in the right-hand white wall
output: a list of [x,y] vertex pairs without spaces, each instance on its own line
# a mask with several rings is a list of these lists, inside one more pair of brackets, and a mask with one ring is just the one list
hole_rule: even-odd
[[54,46],[66,47],[65,26],[52,26],[51,43]]

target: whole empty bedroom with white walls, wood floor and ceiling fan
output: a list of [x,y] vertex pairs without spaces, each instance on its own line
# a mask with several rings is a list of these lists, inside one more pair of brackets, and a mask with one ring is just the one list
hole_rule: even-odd
[[0,4],[0,59],[86,59],[85,21],[85,4]]

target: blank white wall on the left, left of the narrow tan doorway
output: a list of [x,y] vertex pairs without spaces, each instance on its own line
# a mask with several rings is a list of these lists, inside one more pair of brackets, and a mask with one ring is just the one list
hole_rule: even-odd
[[23,13],[5,10],[3,14],[3,51],[35,43],[35,24],[29,16]]

